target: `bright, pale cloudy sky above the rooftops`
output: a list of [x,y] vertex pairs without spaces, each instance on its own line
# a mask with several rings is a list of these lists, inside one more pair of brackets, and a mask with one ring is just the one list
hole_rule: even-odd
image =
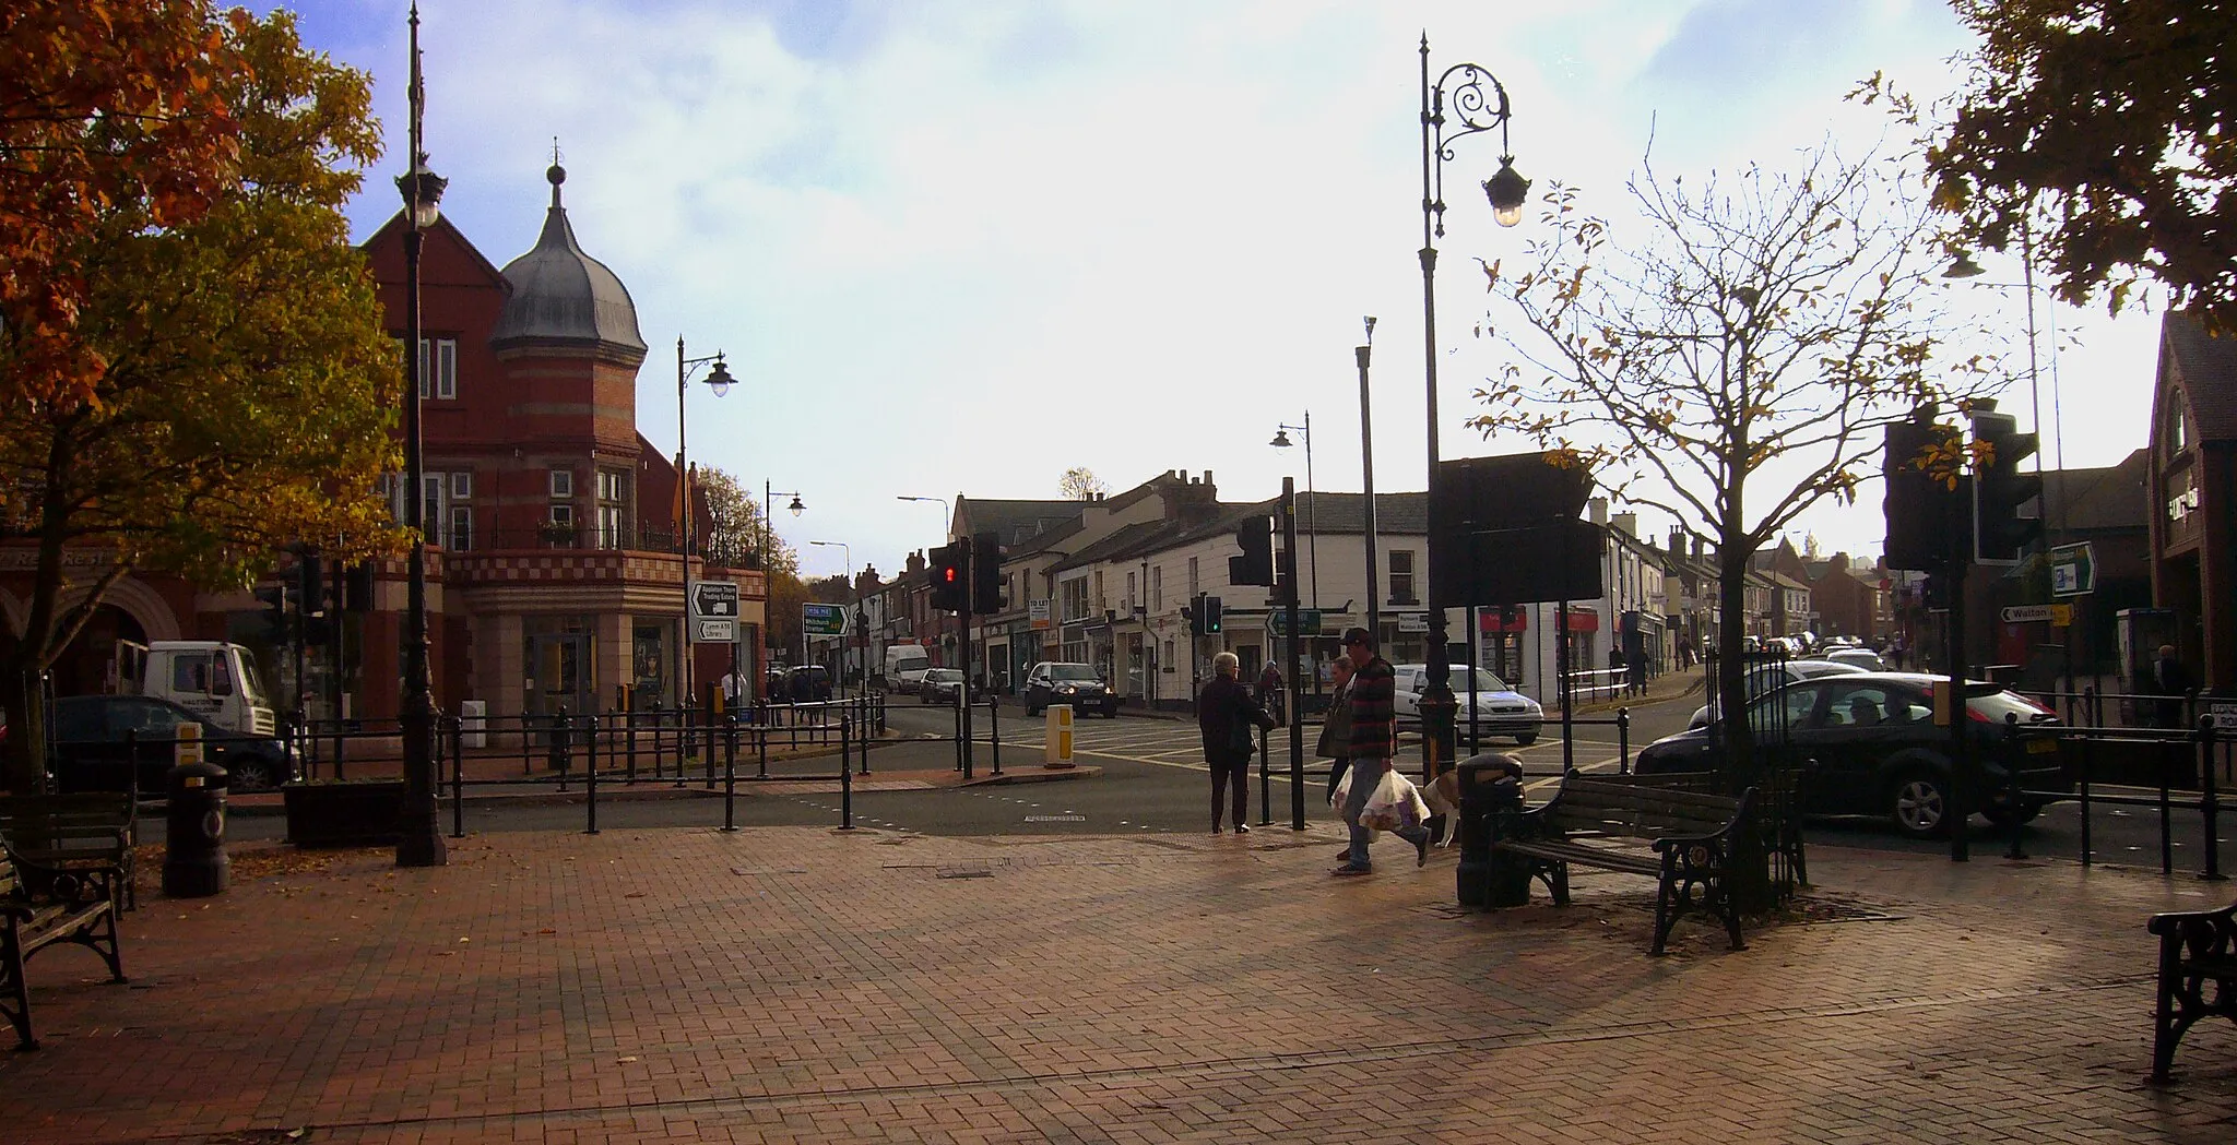
[[[405,165],[407,2],[282,7],[376,81],[362,242]],[[1362,315],[1376,488],[1425,488],[1423,36],[1432,76],[1476,63],[1506,87],[1537,190],[1617,226],[1649,139],[1689,181],[1828,134],[1870,148],[1886,116],[1843,96],[1875,72],[1944,94],[1969,47],[1939,0],[423,0],[425,145],[443,212],[503,266],[544,226],[557,139],[575,235],[651,347],[642,434],[676,450],[676,340],[723,351],[740,385],[693,385],[691,461],[796,492],[776,528],[803,572],[890,575],[944,530],[899,496],[1054,499],[1085,465],[1110,492],[1210,470],[1257,501],[1306,485],[1304,450],[1268,447],[1306,414],[1313,485],[1360,490]],[[1472,335],[1474,259],[1519,259],[1532,221],[1494,226],[1476,192],[1497,132],[1452,150],[1438,452],[1519,452],[1463,420],[1508,358]],[[2024,293],[1964,288],[2024,356]],[[2045,300],[2036,329],[2033,391],[2004,409],[2022,429],[2042,409],[2045,463],[2141,447],[2156,313]],[[1877,552],[1879,499],[1794,541]]]

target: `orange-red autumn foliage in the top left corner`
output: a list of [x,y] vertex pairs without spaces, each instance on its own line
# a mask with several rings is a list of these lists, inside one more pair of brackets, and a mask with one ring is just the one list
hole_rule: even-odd
[[235,49],[208,0],[0,4],[0,398],[94,398],[89,239],[190,224],[239,179]]

